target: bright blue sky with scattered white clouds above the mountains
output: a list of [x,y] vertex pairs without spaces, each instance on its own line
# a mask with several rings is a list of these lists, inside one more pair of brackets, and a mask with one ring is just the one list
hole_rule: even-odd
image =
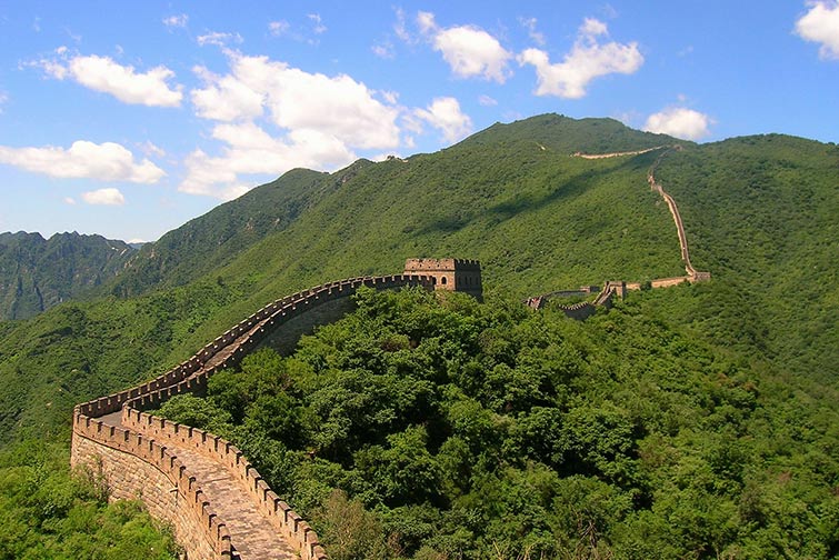
[[0,231],[154,240],[543,112],[839,141],[839,0],[0,4]]

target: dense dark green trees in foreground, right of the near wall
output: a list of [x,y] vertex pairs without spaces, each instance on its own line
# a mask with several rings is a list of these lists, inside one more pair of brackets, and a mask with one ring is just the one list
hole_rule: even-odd
[[364,290],[159,413],[233,440],[336,559],[831,558],[839,412],[633,296],[575,322]]

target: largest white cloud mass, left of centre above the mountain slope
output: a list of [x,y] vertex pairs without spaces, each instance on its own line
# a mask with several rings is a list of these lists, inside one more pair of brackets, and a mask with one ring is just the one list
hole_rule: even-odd
[[[203,68],[202,89],[191,92],[200,117],[217,121],[219,154],[193,151],[183,192],[222,199],[247,190],[242,176],[277,176],[294,167],[332,170],[356,159],[356,149],[400,143],[396,94],[378,93],[347,74],[329,77],[268,57],[227,52],[230,73]],[[264,121],[258,124],[256,121]],[[266,127],[279,131],[273,136]]]

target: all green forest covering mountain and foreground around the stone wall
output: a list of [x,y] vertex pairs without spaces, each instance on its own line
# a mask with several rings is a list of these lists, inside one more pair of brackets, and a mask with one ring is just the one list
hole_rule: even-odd
[[836,556],[839,148],[680,142],[657,178],[712,280],[632,292],[586,322],[521,304],[682,273],[646,181],[657,153],[571,157],[676,142],[540,116],[432,154],[296,170],[114,279],[0,321],[0,559],[176,553],[136,504],[71,477],[72,406],[279,297],[409,257],[479,259],[487,303],[362,294],[294,356],[256,354],[161,413],[247,450],[336,558]]

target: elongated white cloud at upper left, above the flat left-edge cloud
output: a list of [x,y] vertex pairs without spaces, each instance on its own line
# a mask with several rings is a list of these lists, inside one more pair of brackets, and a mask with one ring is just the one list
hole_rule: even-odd
[[[67,53],[60,47],[59,54]],[[58,80],[71,78],[94,91],[110,93],[120,101],[149,107],[178,107],[183,94],[181,87],[174,89],[167,81],[174,72],[159,66],[143,73],[137,73],[132,66],[121,66],[110,57],[72,57],[67,61],[40,60],[32,66],[40,67],[48,76]]]

